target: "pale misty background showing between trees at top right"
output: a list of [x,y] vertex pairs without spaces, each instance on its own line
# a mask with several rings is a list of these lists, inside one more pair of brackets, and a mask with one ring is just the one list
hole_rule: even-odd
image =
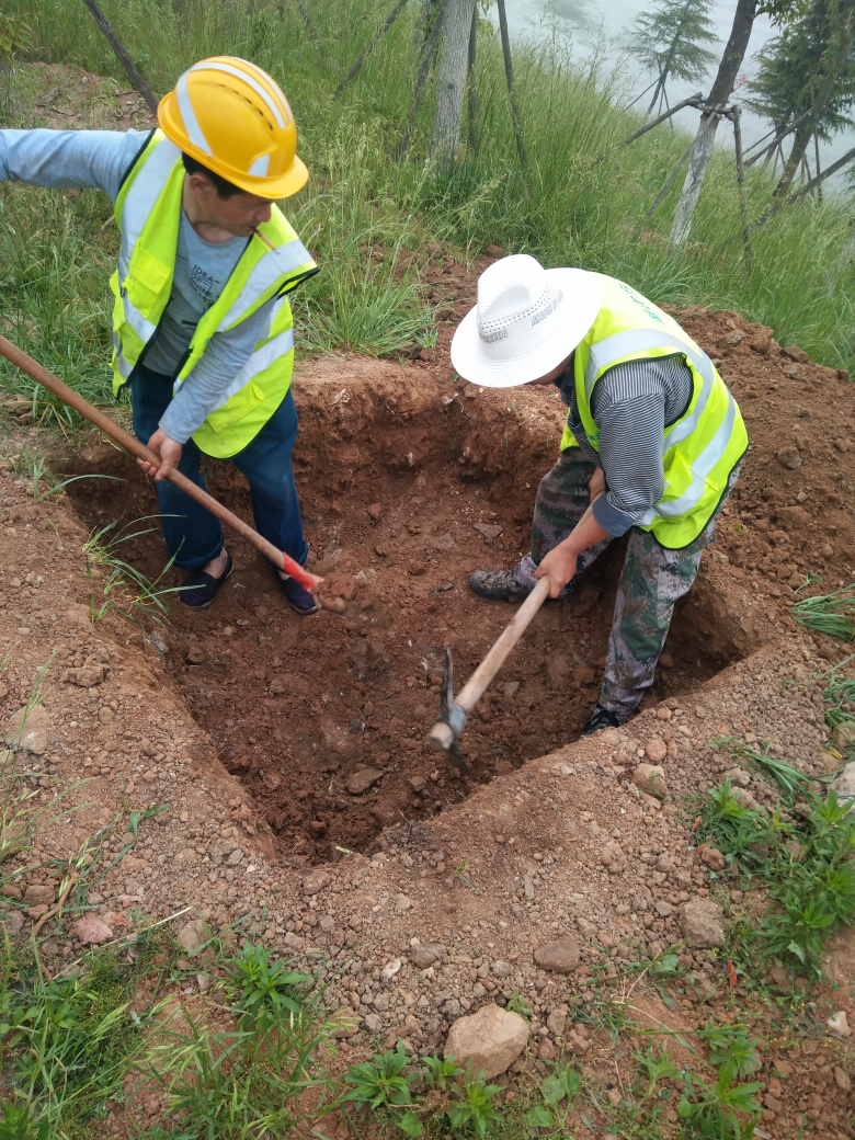
[[[630,92],[627,103],[634,96],[648,87],[656,78],[638,73],[637,62],[633,57],[626,57],[626,48],[632,42],[633,24],[636,16],[642,13],[648,5],[643,0],[506,0],[507,22],[512,36],[524,36],[537,40],[544,35],[551,35],[554,27],[564,31],[573,43],[577,58],[585,58],[598,42],[604,41],[609,63],[619,65],[621,58],[627,64],[625,67],[627,79],[627,90]],[[710,13],[718,33],[720,44],[709,44],[710,50],[720,54],[727,42],[733,23],[733,14],[736,10],[736,0],[720,0]],[[490,13],[490,18],[498,24],[495,8]],[[742,75],[750,79],[757,73],[757,65],[754,55],[760,50],[767,40],[775,35],[775,28],[767,16],[758,16],[754,22],[751,41],[746,52],[742,65]],[[710,84],[715,76],[717,63],[712,65],[708,75],[697,83],[683,83],[679,80],[668,81],[668,101],[674,105],[685,99],[686,96],[694,95],[695,91],[709,92]],[[739,89],[734,92],[734,100],[740,101]],[[653,97],[652,89],[638,100],[636,107],[642,112],[646,111]],[[686,109],[675,115],[675,121],[686,130],[694,131],[698,127],[698,112]],[[719,145],[732,145],[732,131],[726,133],[722,124],[718,128]],[[762,138],[771,128],[771,123],[759,119],[757,115],[746,111],[742,117],[743,146],[748,148],[757,139]],[[667,128],[665,128],[667,129]],[[820,161],[823,168],[830,165],[853,147],[855,132],[844,131],[834,137],[832,142],[823,144],[820,147]],[[726,141],[725,141],[726,140]],[[813,147],[809,148],[808,161],[813,171],[814,157]],[[779,166],[780,170],[780,166]],[[833,174],[824,186],[842,187],[846,171]]]

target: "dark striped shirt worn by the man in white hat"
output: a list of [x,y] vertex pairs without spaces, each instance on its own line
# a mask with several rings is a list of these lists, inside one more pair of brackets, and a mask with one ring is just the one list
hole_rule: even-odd
[[555,381],[569,407],[568,427],[591,463],[603,469],[606,494],[594,518],[610,535],[626,534],[665,492],[662,437],[692,399],[692,373],[682,356],[616,365],[594,385],[591,413],[600,429],[600,453],[579,418],[572,361]]

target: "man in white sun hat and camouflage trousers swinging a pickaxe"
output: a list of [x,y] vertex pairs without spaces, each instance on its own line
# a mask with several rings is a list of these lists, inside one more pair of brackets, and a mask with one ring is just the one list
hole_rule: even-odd
[[748,435],[736,401],[709,357],[629,285],[544,269],[527,254],[481,275],[451,361],[483,388],[555,384],[568,406],[561,455],[538,488],[531,553],[511,570],[475,571],[477,594],[523,597],[546,573],[549,596],[567,597],[576,575],[629,531],[600,699],[583,733],[620,725],[653,684],[674,605],[739,475]]

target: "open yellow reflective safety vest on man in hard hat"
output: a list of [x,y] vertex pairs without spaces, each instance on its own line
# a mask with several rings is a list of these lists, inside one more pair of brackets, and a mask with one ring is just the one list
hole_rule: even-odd
[[[181,152],[155,130],[116,198],[122,246],[119,269],[109,282],[115,298],[112,364],[116,396],[144,359],[169,303],[184,179]],[[258,235],[247,239],[222,293],[199,319],[173,385],[177,392],[214,333],[234,328],[276,298],[249,360],[193,437],[203,451],[218,458],[243,450],[285,399],[294,363],[294,327],[285,293],[318,271],[277,206],[259,233],[270,245]]]

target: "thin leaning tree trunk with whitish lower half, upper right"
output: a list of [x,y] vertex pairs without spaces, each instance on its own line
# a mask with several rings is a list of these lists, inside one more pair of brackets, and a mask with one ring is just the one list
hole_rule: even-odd
[[[731,34],[707,99],[707,109],[701,113],[695,147],[689,161],[689,170],[677,203],[670,236],[674,245],[684,245],[689,239],[694,209],[698,205],[716,140],[719,115],[715,108],[726,106],[727,100],[733,95],[736,76],[748,50],[755,17],[760,13],[767,13],[776,23],[784,23],[801,15],[805,8],[806,0],[738,0]],[[710,116],[714,116],[711,123],[709,122]]]

